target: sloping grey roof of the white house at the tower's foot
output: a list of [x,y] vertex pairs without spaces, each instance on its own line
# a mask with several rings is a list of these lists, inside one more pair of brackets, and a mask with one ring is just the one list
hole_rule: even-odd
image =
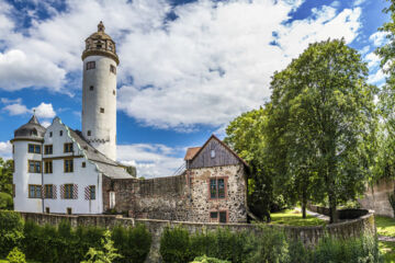
[[88,160],[94,162],[99,171],[112,179],[133,179],[126,172],[126,167],[120,162],[113,161],[97,149],[94,149],[82,136],[81,132],[68,128],[70,136],[76,140],[79,148],[87,156]]

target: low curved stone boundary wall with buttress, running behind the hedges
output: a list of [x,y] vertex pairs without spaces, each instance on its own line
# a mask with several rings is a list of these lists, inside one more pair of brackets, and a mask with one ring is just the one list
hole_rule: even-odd
[[[33,220],[40,225],[50,224],[58,225],[63,219],[69,220],[72,227],[77,226],[101,226],[112,228],[115,225],[132,226],[136,224],[144,224],[149,232],[153,235],[153,244],[146,262],[160,262],[159,244],[160,237],[166,227],[176,227],[182,225],[188,231],[195,232],[198,230],[211,231],[218,227],[228,228],[232,231],[252,231],[255,233],[264,231],[258,225],[251,224],[210,224],[210,222],[187,222],[187,221],[170,221],[156,219],[135,219],[123,218],[122,216],[110,215],[55,215],[55,214],[38,214],[38,213],[20,213],[24,220]],[[361,235],[375,235],[376,229],[374,225],[373,211],[369,210],[366,215],[352,220],[332,224],[328,226],[316,227],[291,227],[291,226],[273,226],[268,227],[283,229],[285,235],[293,239],[302,241],[306,247],[315,245],[319,239],[326,233],[337,238],[360,237]]]

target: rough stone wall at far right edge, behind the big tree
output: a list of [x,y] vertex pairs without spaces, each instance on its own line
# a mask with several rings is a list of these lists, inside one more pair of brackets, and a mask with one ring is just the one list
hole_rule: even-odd
[[382,179],[373,187],[368,186],[359,203],[364,209],[374,210],[376,215],[394,217],[388,202],[388,194],[394,193],[394,180]]

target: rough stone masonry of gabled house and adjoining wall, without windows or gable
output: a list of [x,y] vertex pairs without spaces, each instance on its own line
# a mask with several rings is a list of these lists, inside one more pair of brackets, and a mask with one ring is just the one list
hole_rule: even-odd
[[[226,197],[210,198],[210,179],[224,178]],[[184,174],[138,179],[103,179],[104,210],[115,192],[115,210],[133,218],[210,222],[211,211],[226,211],[229,222],[247,221],[242,164],[189,169]]]

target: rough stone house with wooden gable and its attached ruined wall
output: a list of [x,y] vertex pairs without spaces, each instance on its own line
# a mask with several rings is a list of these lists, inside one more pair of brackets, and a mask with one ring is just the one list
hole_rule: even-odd
[[149,180],[103,182],[104,209],[135,218],[200,222],[247,221],[247,163],[214,135],[189,148],[185,171]]

